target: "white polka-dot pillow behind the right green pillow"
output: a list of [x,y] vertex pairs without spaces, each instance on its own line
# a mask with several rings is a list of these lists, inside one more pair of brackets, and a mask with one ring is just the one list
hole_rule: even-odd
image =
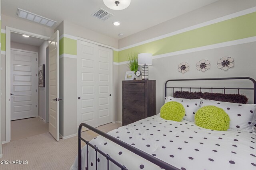
[[253,117],[256,111],[255,104],[237,104],[229,102],[218,102],[215,100],[202,99],[201,107],[217,106],[222,108],[230,118],[230,129],[238,129],[240,131],[253,132]]

